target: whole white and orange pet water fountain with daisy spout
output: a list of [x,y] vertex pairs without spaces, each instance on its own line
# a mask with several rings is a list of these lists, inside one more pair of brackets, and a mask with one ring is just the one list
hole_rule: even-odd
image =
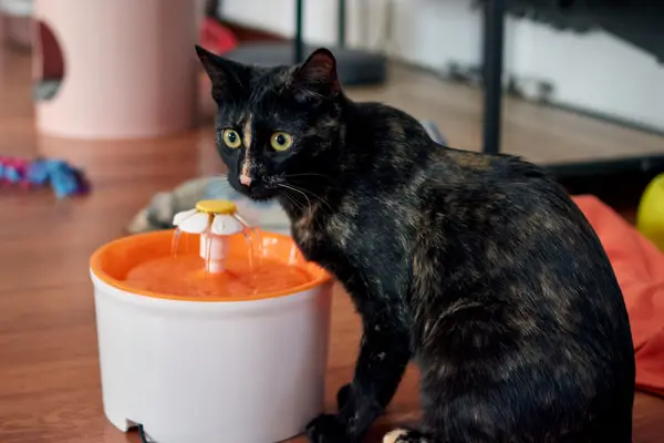
[[228,200],[91,258],[104,411],[148,441],[278,442],[323,410],[331,278]]

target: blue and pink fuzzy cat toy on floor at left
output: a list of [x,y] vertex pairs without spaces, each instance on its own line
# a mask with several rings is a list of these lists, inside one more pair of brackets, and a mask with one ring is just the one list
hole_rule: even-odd
[[89,184],[80,169],[61,159],[0,156],[0,184],[31,189],[51,186],[58,198],[84,194]]

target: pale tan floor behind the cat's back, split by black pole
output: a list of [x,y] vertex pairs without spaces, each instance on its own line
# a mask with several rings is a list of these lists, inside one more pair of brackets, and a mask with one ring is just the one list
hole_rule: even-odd
[[[351,90],[356,100],[387,102],[432,120],[455,147],[481,146],[481,94],[426,73],[393,68],[386,86]],[[664,136],[506,97],[502,150],[539,164],[664,154]]]

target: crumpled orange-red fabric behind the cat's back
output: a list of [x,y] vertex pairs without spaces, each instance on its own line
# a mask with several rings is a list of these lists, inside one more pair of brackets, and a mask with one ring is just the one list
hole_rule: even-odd
[[574,202],[596,231],[623,291],[636,356],[636,388],[664,396],[664,254],[593,196]]

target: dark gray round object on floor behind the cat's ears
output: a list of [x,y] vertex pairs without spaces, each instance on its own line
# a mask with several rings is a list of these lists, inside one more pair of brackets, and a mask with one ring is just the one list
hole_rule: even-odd
[[[304,54],[310,54],[319,47],[304,47]],[[350,48],[325,47],[336,58],[336,72],[344,86],[382,84],[387,78],[387,59],[374,52]],[[307,55],[305,55],[307,56]],[[224,58],[240,63],[261,66],[293,64],[294,45],[286,43],[243,43],[238,49],[224,54]]]

